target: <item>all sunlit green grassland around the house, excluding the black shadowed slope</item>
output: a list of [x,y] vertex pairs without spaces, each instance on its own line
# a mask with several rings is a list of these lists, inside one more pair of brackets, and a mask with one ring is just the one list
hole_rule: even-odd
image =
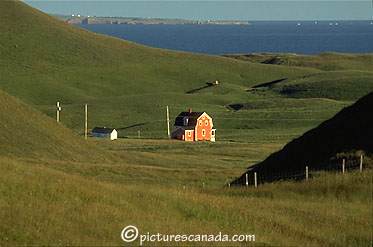
[[[373,54],[270,58],[149,48],[1,1],[0,246],[126,245],[127,225],[256,235],[237,246],[372,245],[369,169],[226,187],[373,91]],[[86,103],[89,128],[118,140],[84,140]],[[172,120],[208,112],[217,142],[168,140],[166,106]],[[188,243],[201,244],[227,245]]]

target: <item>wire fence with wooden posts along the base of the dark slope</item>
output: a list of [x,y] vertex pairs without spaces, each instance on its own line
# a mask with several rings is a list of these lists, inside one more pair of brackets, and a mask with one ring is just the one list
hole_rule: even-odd
[[259,184],[279,182],[279,181],[289,181],[289,180],[308,180],[312,177],[317,176],[320,172],[342,172],[346,173],[351,170],[360,170],[371,169],[372,164],[365,164],[364,157],[361,155],[359,157],[350,158],[347,162],[346,159],[339,159],[339,162],[336,162],[329,166],[324,167],[314,167],[304,166],[302,170],[287,170],[283,172],[266,172],[260,170],[252,170],[243,174],[237,180],[228,183],[227,186],[231,185],[243,185],[243,186],[255,186]]

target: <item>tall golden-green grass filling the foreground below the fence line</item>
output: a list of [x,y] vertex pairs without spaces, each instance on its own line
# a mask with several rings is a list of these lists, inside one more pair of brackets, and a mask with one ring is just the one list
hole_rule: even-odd
[[372,244],[371,170],[228,189],[135,186],[19,160],[0,163],[2,246],[126,245],[120,232],[127,225],[140,234],[255,234],[260,246]]

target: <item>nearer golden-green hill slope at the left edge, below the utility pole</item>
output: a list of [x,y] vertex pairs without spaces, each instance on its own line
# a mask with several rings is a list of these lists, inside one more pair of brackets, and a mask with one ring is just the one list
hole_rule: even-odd
[[0,102],[0,157],[110,160],[110,154],[1,90]]

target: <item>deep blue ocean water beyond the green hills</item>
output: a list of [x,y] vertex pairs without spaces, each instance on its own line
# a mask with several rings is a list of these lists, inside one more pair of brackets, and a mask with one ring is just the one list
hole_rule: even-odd
[[255,21],[251,25],[78,25],[139,44],[203,54],[373,53],[371,21]]

